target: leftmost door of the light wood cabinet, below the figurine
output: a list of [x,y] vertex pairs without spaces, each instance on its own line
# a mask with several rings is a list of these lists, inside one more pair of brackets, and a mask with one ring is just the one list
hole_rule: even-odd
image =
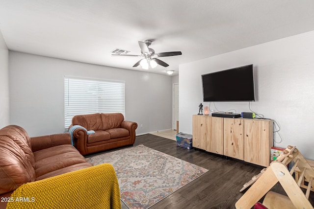
[[193,138],[192,146],[206,150],[206,126],[207,116],[193,115]]

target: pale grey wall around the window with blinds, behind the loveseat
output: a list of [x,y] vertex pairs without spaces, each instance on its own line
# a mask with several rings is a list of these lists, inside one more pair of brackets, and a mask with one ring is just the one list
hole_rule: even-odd
[[[123,80],[136,134],[171,128],[170,76],[9,52],[11,124],[32,136],[64,132],[64,76]],[[143,128],[140,128],[143,124]]]

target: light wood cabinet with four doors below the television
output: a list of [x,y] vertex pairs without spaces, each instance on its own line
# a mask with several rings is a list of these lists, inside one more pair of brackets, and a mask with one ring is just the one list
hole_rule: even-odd
[[193,147],[267,167],[273,121],[193,116]]

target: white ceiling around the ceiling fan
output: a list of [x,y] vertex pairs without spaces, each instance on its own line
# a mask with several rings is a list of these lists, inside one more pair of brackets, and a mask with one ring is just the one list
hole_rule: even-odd
[[[0,31],[10,50],[116,68],[153,39],[170,66],[314,30],[314,0],[0,0]],[[191,69],[193,70],[193,69]],[[174,73],[177,75],[178,72]]]

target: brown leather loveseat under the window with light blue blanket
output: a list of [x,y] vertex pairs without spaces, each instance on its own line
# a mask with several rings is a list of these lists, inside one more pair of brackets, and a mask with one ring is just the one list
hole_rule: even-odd
[[136,128],[137,123],[124,120],[121,113],[96,113],[74,116],[69,132],[74,146],[82,155],[87,155],[134,144]]

